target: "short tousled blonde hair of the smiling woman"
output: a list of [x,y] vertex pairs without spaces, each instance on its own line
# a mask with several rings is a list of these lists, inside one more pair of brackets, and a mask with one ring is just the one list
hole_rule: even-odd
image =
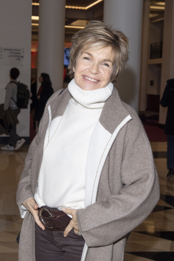
[[100,49],[108,46],[112,48],[114,70],[111,82],[114,82],[119,73],[127,66],[129,59],[128,38],[122,32],[111,29],[111,26],[106,26],[100,21],[91,21],[71,38],[70,64],[68,66],[70,78],[74,78],[73,68],[82,49]]

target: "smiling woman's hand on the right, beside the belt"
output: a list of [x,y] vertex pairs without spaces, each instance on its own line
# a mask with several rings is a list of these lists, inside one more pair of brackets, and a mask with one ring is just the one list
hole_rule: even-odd
[[70,223],[67,225],[67,227],[64,230],[64,237],[66,237],[73,228],[74,228],[74,232],[78,234],[79,226],[76,219],[76,209],[62,208],[62,211],[72,216]]

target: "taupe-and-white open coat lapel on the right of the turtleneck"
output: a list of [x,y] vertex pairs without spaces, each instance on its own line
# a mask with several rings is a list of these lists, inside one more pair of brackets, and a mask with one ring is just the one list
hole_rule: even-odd
[[131,120],[114,88],[95,126],[88,149],[85,181],[85,207],[95,203],[105,160],[120,129]]

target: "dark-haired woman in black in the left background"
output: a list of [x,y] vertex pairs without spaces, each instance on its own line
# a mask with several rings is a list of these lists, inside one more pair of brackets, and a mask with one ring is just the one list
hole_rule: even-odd
[[37,121],[38,126],[44,114],[46,102],[54,92],[52,88],[52,83],[49,78],[49,74],[41,73],[39,77],[39,82],[41,82],[41,87],[39,88],[37,94],[36,112],[35,112],[35,121]]

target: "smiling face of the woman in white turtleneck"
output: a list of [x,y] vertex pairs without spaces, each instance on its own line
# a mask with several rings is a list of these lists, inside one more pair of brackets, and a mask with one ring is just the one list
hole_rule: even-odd
[[85,91],[106,87],[113,73],[113,55],[110,46],[101,49],[83,49],[79,52],[74,70],[76,84]]

